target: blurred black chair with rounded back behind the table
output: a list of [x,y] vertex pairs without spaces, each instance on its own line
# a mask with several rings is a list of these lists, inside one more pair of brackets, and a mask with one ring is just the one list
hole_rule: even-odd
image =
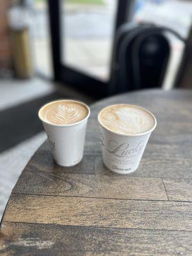
[[109,94],[161,87],[170,59],[166,33],[186,44],[177,32],[153,24],[124,24],[118,29]]

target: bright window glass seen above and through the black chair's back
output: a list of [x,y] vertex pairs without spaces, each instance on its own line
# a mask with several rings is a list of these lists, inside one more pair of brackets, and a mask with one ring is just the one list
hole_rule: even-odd
[[[180,36],[188,38],[191,27],[191,1],[182,0],[137,0],[133,20],[135,22],[150,22],[157,26],[171,28]],[[175,36],[167,35],[170,40],[171,56],[164,79],[163,87],[173,87],[175,77],[179,72],[180,61],[184,52],[184,44]]]

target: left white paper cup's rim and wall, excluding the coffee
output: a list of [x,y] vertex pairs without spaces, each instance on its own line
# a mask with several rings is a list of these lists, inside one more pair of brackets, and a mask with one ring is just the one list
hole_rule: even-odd
[[[57,100],[54,102],[56,101]],[[83,104],[83,106],[88,109],[88,115],[83,120],[74,124],[56,125],[45,121],[40,113],[45,106],[52,104],[52,102],[45,104],[38,111],[38,117],[42,121],[45,132],[47,133],[54,161],[61,166],[74,166],[81,162],[83,158],[86,124],[88,117],[90,116],[90,108],[88,108],[86,104],[77,100],[71,101]]]

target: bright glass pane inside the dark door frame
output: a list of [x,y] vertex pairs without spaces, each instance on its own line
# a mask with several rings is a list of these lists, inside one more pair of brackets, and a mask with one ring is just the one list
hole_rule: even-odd
[[116,0],[61,0],[63,65],[108,80]]

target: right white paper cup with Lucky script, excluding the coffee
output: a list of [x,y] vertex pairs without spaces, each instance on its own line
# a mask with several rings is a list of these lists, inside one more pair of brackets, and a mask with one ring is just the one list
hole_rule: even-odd
[[[136,107],[143,109],[139,106]],[[106,108],[109,108],[109,106]],[[138,168],[150,134],[157,125],[155,116],[147,109],[143,110],[147,111],[154,118],[154,126],[147,132],[130,135],[120,134],[104,127],[100,121],[99,113],[98,121],[102,139],[103,162],[112,172],[127,174],[134,172]]]

